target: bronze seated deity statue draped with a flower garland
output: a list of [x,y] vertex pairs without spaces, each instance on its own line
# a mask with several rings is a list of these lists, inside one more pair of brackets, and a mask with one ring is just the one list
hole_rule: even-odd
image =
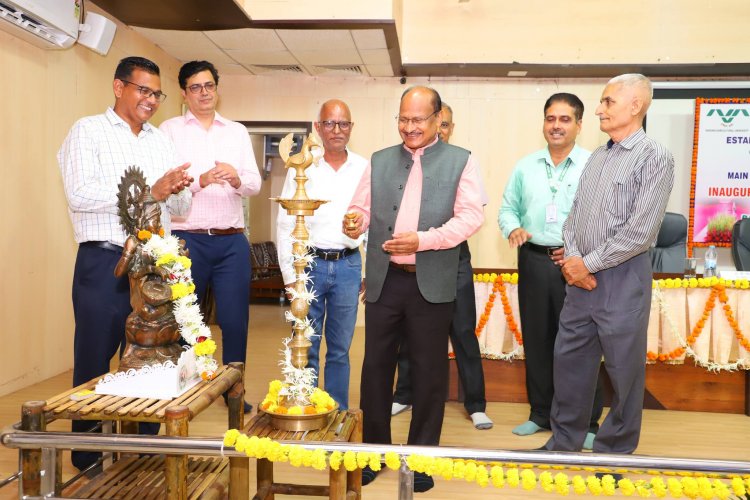
[[[128,238],[115,267],[115,276],[128,274],[133,308],[125,323],[127,345],[118,371],[137,370],[166,361],[177,364],[183,349],[178,344],[180,332],[172,313],[168,271],[157,266],[143,249],[151,235],[161,236],[164,232],[161,207],[137,167],[125,171],[118,187],[120,224]],[[187,256],[184,241],[180,241],[180,255]]]

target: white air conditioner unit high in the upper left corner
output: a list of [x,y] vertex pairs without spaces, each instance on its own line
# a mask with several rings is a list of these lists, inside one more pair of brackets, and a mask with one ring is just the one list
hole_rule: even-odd
[[0,29],[44,49],[78,38],[81,0],[0,0]]

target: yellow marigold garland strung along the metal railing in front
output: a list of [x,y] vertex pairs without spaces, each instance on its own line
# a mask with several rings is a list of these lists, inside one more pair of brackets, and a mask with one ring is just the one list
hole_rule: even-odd
[[[344,453],[340,451],[326,452],[322,448],[308,450],[296,444],[281,444],[270,438],[257,436],[248,437],[240,433],[237,429],[230,429],[224,434],[223,444],[226,447],[234,447],[239,453],[244,453],[249,458],[265,458],[271,462],[288,462],[294,467],[312,467],[317,470],[324,470],[331,467],[333,470],[339,470],[341,465],[351,472],[357,468],[370,466],[374,471],[379,471],[381,462],[385,461],[386,467],[391,470],[398,470],[402,463],[405,463],[409,469],[414,472],[424,472],[430,476],[442,477],[446,480],[463,479],[470,483],[477,483],[481,487],[486,487],[490,483],[495,488],[504,488],[506,485],[511,488],[521,486],[524,490],[532,491],[537,487],[548,493],[557,493],[558,495],[567,496],[571,488],[577,495],[591,493],[599,496],[613,496],[619,488],[619,492],[625,496],[635,496],[648,498],[653,496],[663,498],[670,496],[672,498],[702,498],[710,500],[718,498],[724,500],[730,494],[738,497],[750,492],[750,475],[727,476],[731,481],[727,485],[721,481],[718,474],[708,476],[699,475],[692,472],[664,472],[669,477],[667,482],[659,477],[659,471],[649,470],[646,474],[656,477],[651,480],[638,479],[631,480],[628,478],[620,479],[615,482],[611,474],[605,474],[601,479],[595,475],[586,476],[574,475],[570,478],[563,472],[557,472],[554,476],[548,469],[559,470],[563,466],[534,465],[534,464],[513,464],[513,463],[490,463],[477,462],[474,460],[461,460],[442,457],[430,457],[424,455],[408,455],[405,458],[394,452],[388,452],[385,456],[379,453],[360,451],[354,452],[347,450]],[[507,470],[503,469],[503,466]],[[488,470],[489,467],[489,470]],[[543,469],[538,475],[532,470],[533,468]],[[580,467],[570,467],[571,470],[580,470]],[[611,473],[612,471],[603,467],[584,467],[583,470],[590,472]],[[629,472],[628,470],[618,469],[617,473]],[[643,474],[644,471],[632,471],[636,474]]]

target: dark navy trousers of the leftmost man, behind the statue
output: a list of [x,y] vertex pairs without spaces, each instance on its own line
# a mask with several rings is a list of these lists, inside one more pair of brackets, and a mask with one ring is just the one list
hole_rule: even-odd
[[[120,253],[82,243],[73,272],[73,386],[109,372],[109,362],[125,346],[125,320],[132,311],[128,277],[116,278]],[[73,432],[86,432],[94,420],[75,420]],[[141,423],[141,434],[158,434],[159,424]],[[94,463],[101,453],[73,451],[79,469]]]

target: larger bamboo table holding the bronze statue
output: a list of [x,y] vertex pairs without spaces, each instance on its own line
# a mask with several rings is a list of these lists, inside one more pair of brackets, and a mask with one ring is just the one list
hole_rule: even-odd
[[[95,395],[74,401],[71,395],[82,390],[93,390],[100,377],[53,396],[44,401],[24,404],[24,430],[44,431],[46,423],[57,419],[101,420],[104,432],[112,432],[112,424],[119,422],[123,434],[138,434],[138,422],[165,424],[168,436],[187,436],[188,423],[229,391],[229,428],[243,426],[243,369],[242,363],[230,363],[217,370],[216,377],[198,383],[174,399],[146,399]],[[23,450],[22,470],[24,495],[40,494],[41,451]],[[187,455],[166,457],[121,457],[116,463],[105,460],[103,471],[87,484],[75,489],[76,498],[199,498],[214,497],[229,488],[231,499],[249,495],[248,462],[245,458],[197,459]],[[55,495],[60,496],[62,464],[60,452],[55,461]],[[229,467],[227,468],[227,464]],[[71,487],[76,488],[76,484]]]

